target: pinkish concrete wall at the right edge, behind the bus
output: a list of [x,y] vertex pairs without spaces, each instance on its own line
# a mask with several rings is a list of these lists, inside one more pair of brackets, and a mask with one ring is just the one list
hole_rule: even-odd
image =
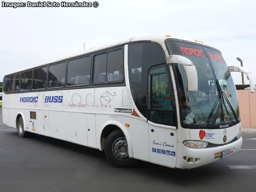
[[242,127],[256,127],[256,94],[237,90]]

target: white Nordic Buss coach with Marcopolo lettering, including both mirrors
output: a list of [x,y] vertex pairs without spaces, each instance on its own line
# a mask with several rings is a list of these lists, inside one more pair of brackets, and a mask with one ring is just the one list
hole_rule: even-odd
[[3,122],[105,150],[116,167],[137,159],[195,168],[242,145],[236,87],[218,49],[144,36],[4,76]]

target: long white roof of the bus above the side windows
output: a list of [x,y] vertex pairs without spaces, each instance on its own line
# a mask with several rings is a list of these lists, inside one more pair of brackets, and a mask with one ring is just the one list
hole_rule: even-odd
[[46,64],[49,64],[49,63],[54,63],[54,62],[57,62],[57,61],[66,60],[66,59],[76,57],[76,56],[79,56],[79,55],[83,55],[83,54],[86,54],[86,53],[97,52],[97,51],[100,51],[102,49],[106,49],[106,48],[113,47],[113,46],[116,46],[116,45],[130,43],[130,42],[133,42],[133,41],[152,41],[152,42],[156,42],[156,43],[160,44],[163,47],[164,52],[166,52],[167,50],[166,50],[165,45],[164,45],[164,40],[168,39],[168,38],[185,40],[185,41],[188,41],[188,42],[207,45],[202,41],[198,41],[198,40],[195,40],[195,39],[189,39],[189,38],[180,38],[180,37],[177,37],[177,36],[169,36],[169,35],[138,36],[138,37],[132,37],[132,38],[129,38],[129,39],[126,39],[126,40],[123,40],[123,41],[119,41],[119,42],[116,42],[116,43],[103,45],[103,46],[96,47],[96,48],[91,48],[91,49],[88,49],[84,52],[80,52],[80,53],[77,53],[77,54],[74,54],[74,55],[69,55],[67,57],[63,57],[63,58],[60,58],[58,60],[52,60],[52,61],[45,62],[45,63],[42,63],[42,64],[34,65],[34,66],[31,66],[31,67],[12,70],[12,71],[6,73],[5,76],[9,75],[9,74],[17,73],[19,71],[24,71],[24,70],[27,70],[27,69],[30,69],[30,68],[40,67],[40,66],[43,66],[43,65],[46,65]]

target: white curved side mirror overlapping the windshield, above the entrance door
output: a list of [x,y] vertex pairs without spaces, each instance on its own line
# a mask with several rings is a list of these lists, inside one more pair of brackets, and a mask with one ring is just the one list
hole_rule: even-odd
[[187,90],[188,92],[197,92],[197,72],[193,62],[180,55],[170,55],[166,57],[166,63],[179,63],[184,66],[187,72]]

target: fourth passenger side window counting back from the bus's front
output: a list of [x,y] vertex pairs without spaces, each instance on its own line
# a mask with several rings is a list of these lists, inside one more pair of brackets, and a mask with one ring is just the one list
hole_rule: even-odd
[[45,89],[47,77],[47,67],[34,69],[33,89]]

